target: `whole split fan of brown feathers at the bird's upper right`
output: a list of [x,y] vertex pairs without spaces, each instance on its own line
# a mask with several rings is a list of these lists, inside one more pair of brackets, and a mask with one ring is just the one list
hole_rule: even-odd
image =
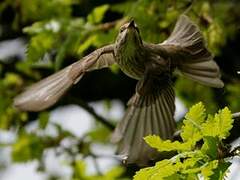
[[222,88],[218,65],[207,50],[198,26],[187,16],[181,15],[170,37],[162,43],[175,47],[174,63],[186,77],[201,84]]

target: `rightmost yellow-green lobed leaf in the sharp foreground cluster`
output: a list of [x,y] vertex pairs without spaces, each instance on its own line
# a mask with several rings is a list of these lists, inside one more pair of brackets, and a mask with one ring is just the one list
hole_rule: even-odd
[[231,111],[225,107],[215,114],[214,118],[209,118],[204,123],[202,133],[204,136],[218,137],[225,139],[229,136],[229,131],[232,129],[233,119]]

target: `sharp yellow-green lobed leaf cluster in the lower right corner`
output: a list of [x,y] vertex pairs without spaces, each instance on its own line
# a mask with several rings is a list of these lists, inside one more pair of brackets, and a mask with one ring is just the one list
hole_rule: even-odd
[[229,136],[232,123],[227,107],[212,116],[206,114],[201,102],[194,105],[183,121],[182,141],[164,141],[156,135],[144,138],[159,152],[176,151],[177,155],[141,169],[134,179],[224,179],[231,163],[226,159],[230,147],[223,140]]

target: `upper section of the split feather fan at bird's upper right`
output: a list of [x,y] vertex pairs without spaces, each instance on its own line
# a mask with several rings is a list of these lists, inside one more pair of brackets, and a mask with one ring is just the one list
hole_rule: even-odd
[[171,35],[159,45],[175,57],[175,61],[195,63],[213,58],[205,47],[200,29],[186,15],[179,17]]

